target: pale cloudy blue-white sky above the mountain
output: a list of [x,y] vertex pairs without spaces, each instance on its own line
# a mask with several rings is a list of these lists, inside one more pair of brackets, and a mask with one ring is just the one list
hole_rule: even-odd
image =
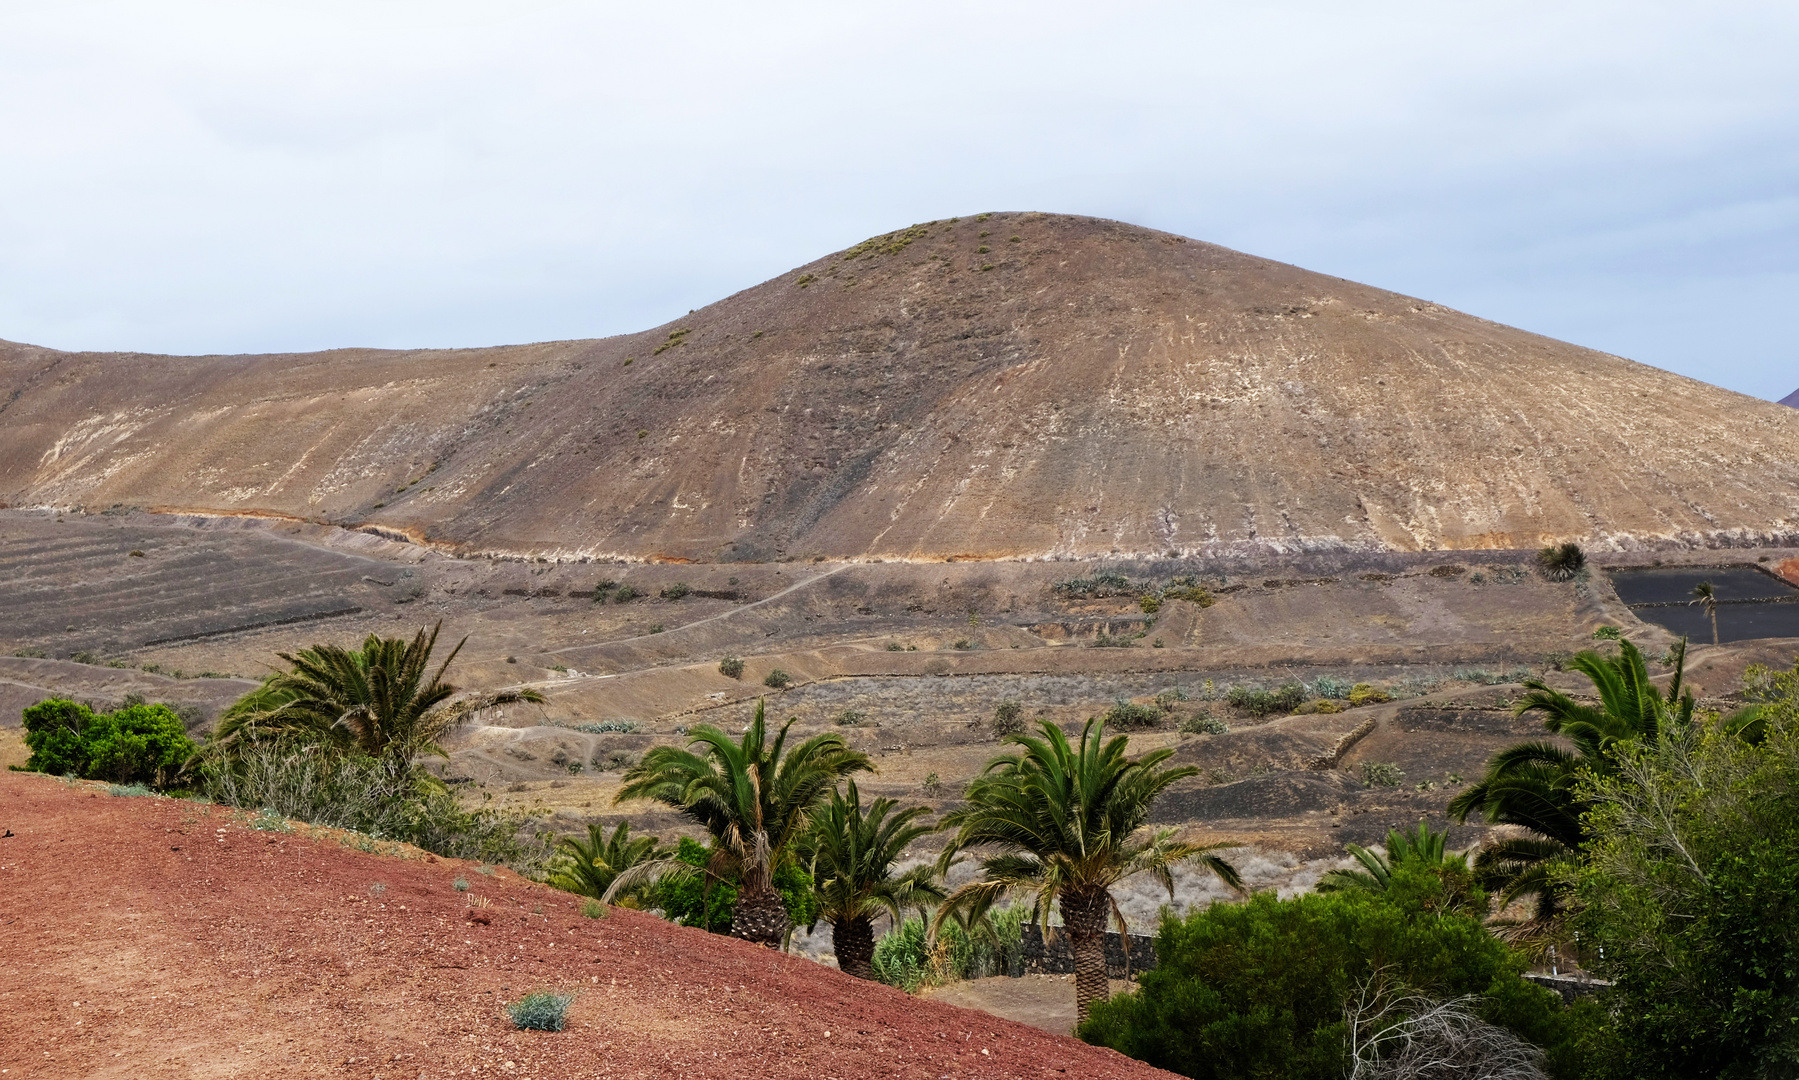
[[0,338],[604,337],[1049,211],[1779,398],[1795,56],[1790,0],[0,0]]

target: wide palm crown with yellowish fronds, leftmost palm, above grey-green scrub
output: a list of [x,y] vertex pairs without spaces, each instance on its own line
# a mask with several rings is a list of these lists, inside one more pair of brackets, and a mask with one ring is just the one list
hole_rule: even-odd
[[362,751],[410,767],[419,754],[444,756],[437,745],[470,715],[509,702],[541,702],[534,689],[502,689],[457,697],[444,673],[462,652],[464,637],[432,671],[435,626],[412,641],[371,634],[360,650],[315,644],[277,653],[291,670],[279,671],[227,709],[214,745],[228,751],[246,738],[302,736],[338,751]]

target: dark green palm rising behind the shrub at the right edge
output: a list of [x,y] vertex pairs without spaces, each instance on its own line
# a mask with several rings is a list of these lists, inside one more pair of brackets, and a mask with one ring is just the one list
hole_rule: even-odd
[[1551,742],[1504,749],[1488,763],[1486,776],[1448,806],[1457,821],[1481,814],[1531,833],[1488,844],[1475,855],[1475,871],[1500,891],[1502,907],[1531,896],[1535,922],[1549,925],[1562,911],[1554,871],[1587,839],[1581,824],[1587,805],[1574,794],[1580,776],[1612,769],[1607,752],[1621,742],[1653,740],[1669,724],[1693,720],[1693,691],[1684,689],[1686,639],[1673,652],[1675,675],[1666,693],[1650,682],[1642,652],[1630,641],[1619,641],[1616,657],[1592,650],[1578,653],[1569,666],[1592,680],[1598,707],[1551,689],[1542,679],[1524,680],[1527,693],[1513,713],[1542,713],[1544,727],[1569,740],[1572,749]]

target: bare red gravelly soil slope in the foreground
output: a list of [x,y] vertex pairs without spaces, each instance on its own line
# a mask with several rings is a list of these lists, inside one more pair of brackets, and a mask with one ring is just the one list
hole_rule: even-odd
[[[507,871],[257,832],[219,806],[0,774],[0,826],[5,1080],[1168,1076],[649,914],[581,918]],[[577,994],[565,1031],[502,1015],[540,988]]]

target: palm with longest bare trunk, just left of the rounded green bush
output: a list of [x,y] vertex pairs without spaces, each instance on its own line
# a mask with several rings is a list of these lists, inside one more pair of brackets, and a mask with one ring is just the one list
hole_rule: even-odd
[[[1081,729],[1079,747],[1051,722],[1042,736],[1009,734],[1020,752],[988,761],[968,785],[966,803],[943,817],[955,839],[939,866],[970,846],[998,851],[980,859],[982,878],[957,889],[937,909],[935,927],[964,911],[975,918],[1011,891],[1033,893],[1034,916],[1045,925],[1052,905],[1074,950],[1074,1003],[1087,1019],[1106,995],[1106,922],[1124,927],[1112,887],[1139,873],[1153,875],[1175,895],[1173,868],[1195,860],[1232,887],[1236,869],[1214,855],[1225,844],[1189,844],[1175,830],[1146,826],[1150,806],[1168,785],[1198,772],[1162,769],[1175,751],[1126,758],[1128,736],[1105,738],[1105,718]],[[973,920],[970,920],[973,922]]]

